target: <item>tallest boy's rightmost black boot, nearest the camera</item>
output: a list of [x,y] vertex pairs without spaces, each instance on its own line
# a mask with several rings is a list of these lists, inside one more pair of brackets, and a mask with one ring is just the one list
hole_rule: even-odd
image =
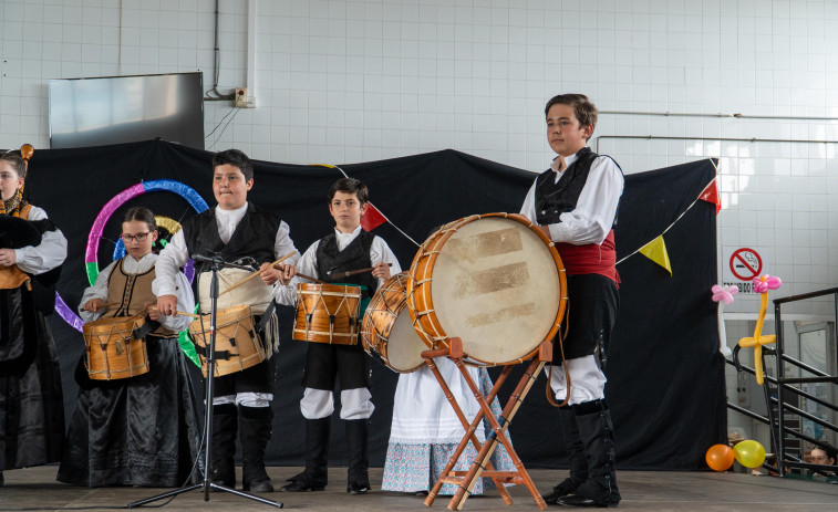
[[579,435],[588,458],[588,480],[558,500],[569,506],[617,506],[620,491],[614,473],[614,426],[604,400],[573,406]]

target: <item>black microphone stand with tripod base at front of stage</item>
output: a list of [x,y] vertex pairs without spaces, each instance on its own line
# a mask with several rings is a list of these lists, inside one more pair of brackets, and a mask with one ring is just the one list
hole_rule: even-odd
[[[133,501],[128,503],[128,509],[134,509],[137,506],[143,506],[146,503],[151,503],[154,501],[163,500],[165,498],[169,497],[176,497],[178,494],[183,494],[184,492],[194,491],[196,489],[204,489],[204,501],[209,501],[209,490],[210,489],[217,489],[219,491],[229,492],[231,494],[237,494],[242,498],[248,498],[254,501],[258,501],[260,503],[265,503],[266,505],[276,506],[277,509],[282,508],[282,503],[278,501],[270,501],[266,500],[265,498],[259,498],[257,495],[244,492],[244,491],[237,491],[236,489],[228,488],[226,485],[220,485],[218,483],[214,483],[209,480],[209,473],[210,469],[213,468],[213,398],[215,397],[215,362],[216,362],[216,312],[218,310],[218,271],[221,270],[224,267],[234,268],[234,269],[242,269],[242,270],[251,270],[249,267],[244,265],[237,265],[235,263],[227,263],[221,258],[214,257],[214,258],[207,258],[200,254],[193,254],[192,259],[196,262],[201,263],[209,263],[209,268],[213,271],[213,278],[209,284],[209,296],[210,296],[210,307],[209,307],[209,348],[207,349],[207,382],[206,382],[206,389],[205,389],[205,410],[204,410],[204,438],[206,439],[206,442],[204,445],[204,481],[201,483],[195,483],[189,487],[185,487],[182,489],[176,489],[174,491],[164,492],[163,494],[157,494],[152,498],[146,498],[145,500],[141,501]],[[200,457],[200,453],[198,454]]]

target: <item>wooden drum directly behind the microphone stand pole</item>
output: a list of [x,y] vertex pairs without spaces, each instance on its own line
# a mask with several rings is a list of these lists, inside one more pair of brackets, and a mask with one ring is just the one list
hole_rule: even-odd
[[[200,315],[189,324],[189,336],[196,345],[200,372],[207,376],[210,315]],[[256,331],[254,314],[247,304],[227,307],[216,314],[215,376],[241,372],[265,361],[265,347]]]

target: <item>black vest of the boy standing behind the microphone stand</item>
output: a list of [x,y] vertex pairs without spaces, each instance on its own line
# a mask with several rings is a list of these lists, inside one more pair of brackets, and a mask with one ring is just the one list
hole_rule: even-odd
[[[218,236],[215,208],[210,208],[184,222],[184,240],[189,254],[220,257],[227,262],[240,261],[258,269],[262,263],[275,260],[273,247],[280,221],[272,211],[248,202],[245,216],[225,244]],[[203,270],[203,265],[196,267],[198,271]]]

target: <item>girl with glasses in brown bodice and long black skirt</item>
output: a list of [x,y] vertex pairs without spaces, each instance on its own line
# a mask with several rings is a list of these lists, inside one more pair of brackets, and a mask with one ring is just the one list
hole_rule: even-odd
[[[156,309],[157,240],[154,215],[132,208],[122,223],[126,255],[99,274],[82,296],[85,322],[145,315],[148,372],[128,378],[93,380],[76,369],[79,401],[68,431],[58,480],[79,485],[177,487],[199,480],[195,394],[177,333],[189,317]],[[177,310],[192,312],[192,286],[180,272]],[[152,307],[149,307],[149,305]]]

